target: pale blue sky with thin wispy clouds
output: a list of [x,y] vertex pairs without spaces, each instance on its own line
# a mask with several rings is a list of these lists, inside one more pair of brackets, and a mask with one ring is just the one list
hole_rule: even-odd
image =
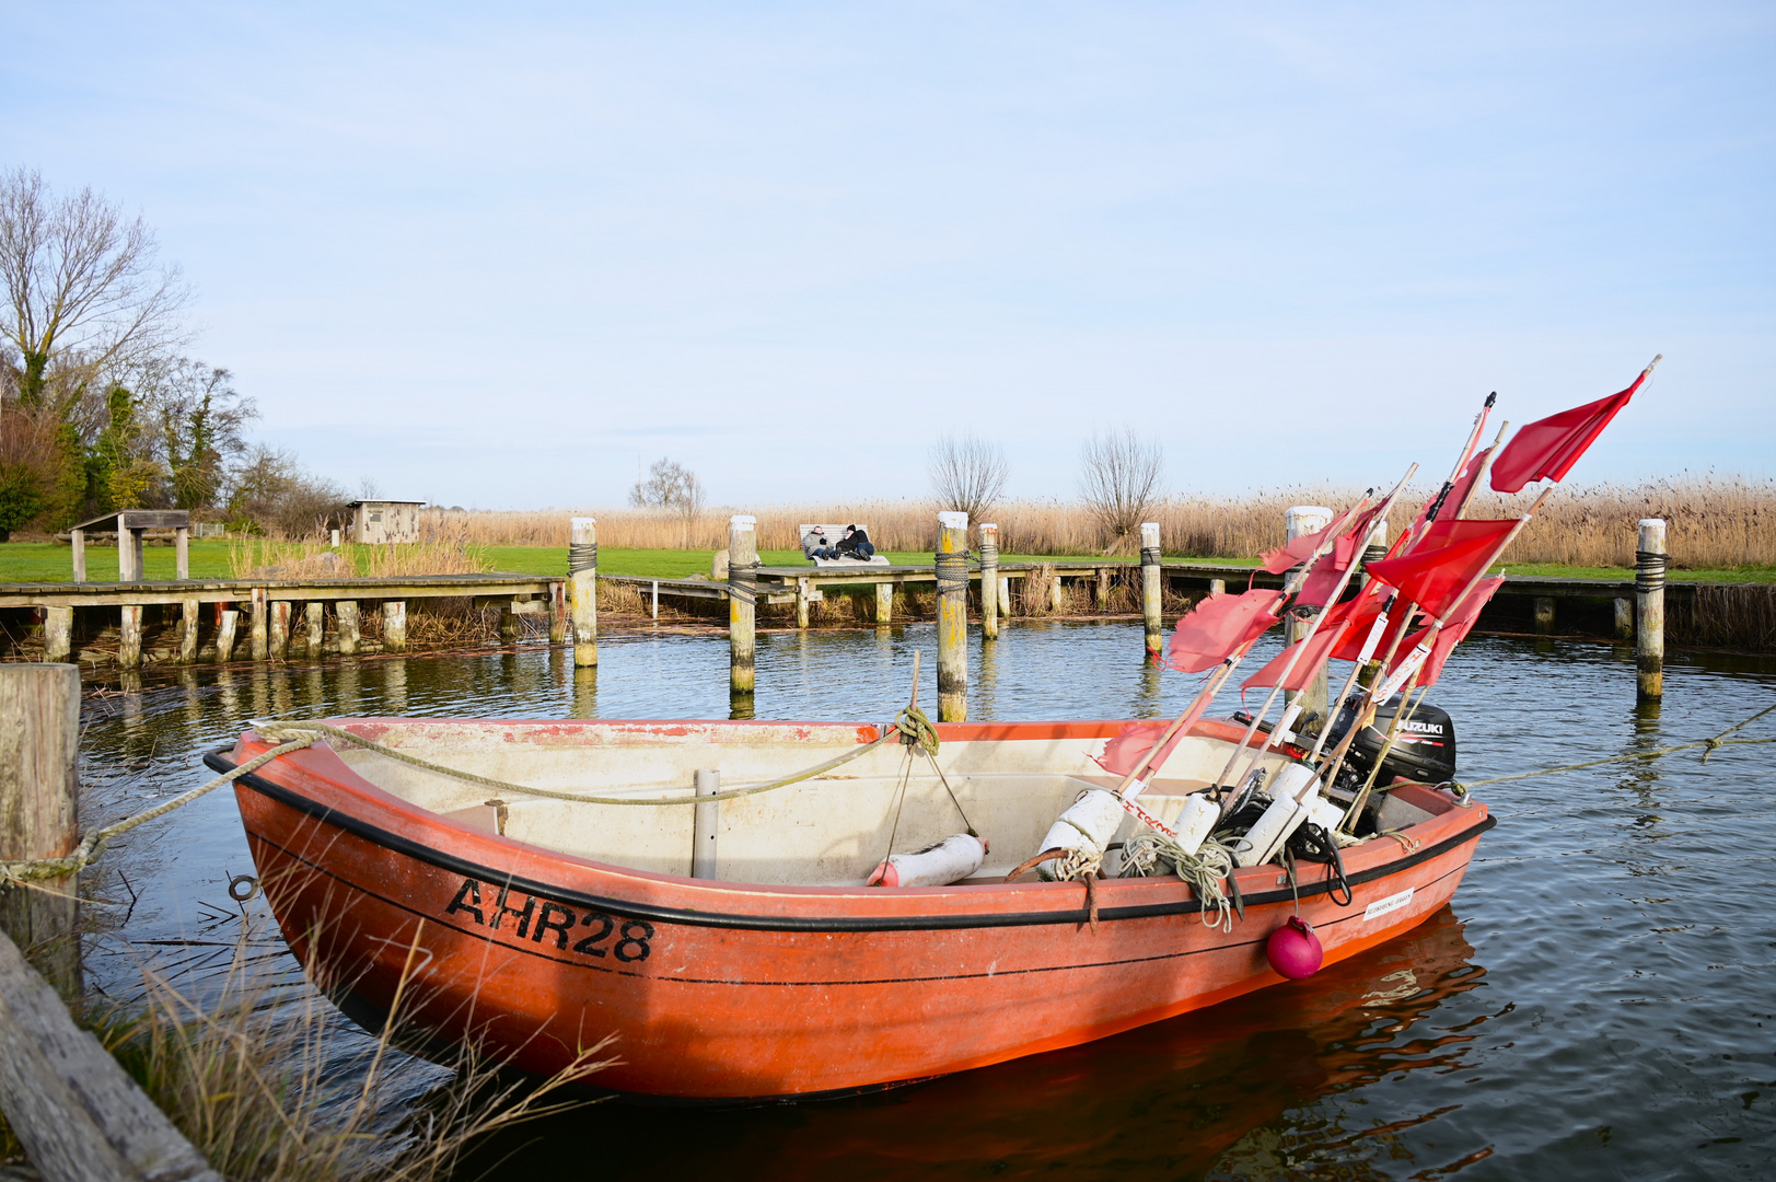
[[195,355],[348,485],[924,496],[1776,475],[1776,7],[7,5],[0,164],[158,229]]

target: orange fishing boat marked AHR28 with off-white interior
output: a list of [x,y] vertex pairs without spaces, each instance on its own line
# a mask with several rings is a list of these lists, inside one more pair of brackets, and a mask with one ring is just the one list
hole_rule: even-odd
[[[1007,882],[1082,793],[1117,782],[1094,755],[1122,720],[938,725],[924,771],[877,723],[330,725],[377,747],[336,736],[234,784],[309,972],[366,1026],[403,990],[403,1017],[432,1038],[536,1074],[614,1033],[622,1061],[600,1086],[662,1100],[881,1088],[1279,985],[1265,949],[1289,917],[1328,963],[1408,931],[1449,901],[1494,823],[1449,791],[1394,786],[1341,867],[1227,875],[1238,914],[1224,924],[1174,875],[1106,864],[1087,882]],[[1142,807],[1176,818],[1243,734],[1193,723]],[[270,747],[249,731],[208,763],[233,770]],[[840,755],[854,759],[757,795],[616,803],[684,798],[700,770],[748,784]],[[1296,755],[1284,745],[1261,766]],[[936,846],[959,818],[989,851],[966,878],[865,885],[890,846]]]

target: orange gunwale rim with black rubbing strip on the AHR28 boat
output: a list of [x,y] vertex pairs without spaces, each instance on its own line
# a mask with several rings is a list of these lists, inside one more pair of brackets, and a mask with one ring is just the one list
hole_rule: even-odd
[[[407,722],[407,720],[401,720],[401,722]],[[444,722],[444,720],[440,720],[440,722]],[[462,720],[448,720],[448,722],[462,722]],[[488,720],[488,722],[494,722],[494,720]],[[497,722],[501,725],[510,725],[511,720],[497,720]],[[526,722],[529,722],[529,720],[526,720]],[[551,720],[536,720],[536,722],[543,723],[543,722],[551,722]],[[623,720],[623,722],[641,722],[641,720]],[[604,723],[604,725],[613,725],[613,723]],[[684,720],[678,720],[675,725],[684,725]],[[735,725],[735,723],[723,722],[723,723],[712,723],[712,725]],[[852,729],[852,731],[860,729],[858,723],[739,723],[739,725],[771,725],[771,727],[778,727],[778,725],[822,725],[822,727],[845,727],[845,729]],[[1023,738],[1037,738],[1037,736],[1028,734],[1028,731],[1027,731],[1027,727],[1032,727],[1032,725],[1034,727],[1044,727],[1044,729],[1051,727],[1051,725],[1053,727],[1090,727],[1090,734],[1117,734],[1117,732],[1121,732],[1121,727],[1126,725],[1126,722],[1105,720],[1105,722],[1092,722],[1092,723],[1074,723],[1074,722],[1067,722],[1067,723],[954,723],[954,725],[943,725],[941,731],[952,731],[952,729],[954,731],[964,731],[964,729],[966,731],[975,731],[979,727],[982,731],[993,729],[993,731],[1002,731],[1003,732],[1009,727],[1018,727]],[[1218,727],[1218,725],[1225,725],[1225,723],[1215,723],[1215,725]],[[247,734],[252,734],[252,741],[270,747],[256,732],[249,731]],[[213,752],[206,754],[204,755],[204,764],[208,764],[210,768],[213,768],[217,771],[233,771],[240,763],[243,763],[243,761],[236,761],[234,759],[234,752],[240,750],[240,745],[243,745],[243,743],[249,741],[247,734],[240,736],[240,739],[236,741],[236,745],[233,748],[224,747],[224,748],[218,748],[218,750],[213,750]],[[961,739],[964,736],[963,734],[954,734],[950,738]],[[975,738],[975,736],[966,736],[966,738]],[[1000,738],[1000,736],[993,736],[993,738]],[[323,784],[334,787],[336,791],[355,795],[366,805],[380,807],[384,811],[389,811],[396,818],[401,818],[401,819],[407,819],[407,821],[412,821],[412,823],[417,823],[417,825],[424,825],[424,827],[440,827],[440,828],[446,828],[448,832],[453,832],[453,834],[460,832],[460,835],[465,837],[469,841],[469,844],[480,844],[481,841],[492,839],[492,841],[499,841],[499,843],[506,843],[506,844],[513,846],[513,853],[520,853],[520,855],[524,855],[527,859],[533,859],[533,860],[542,860],[545,864],[554,862],[554,864],[561,866],[563,869],[570,867],[575,873],[586,873],[586,871],[590,871],[590,873],[602,875],[602,876],[632,878],[632,880],[638,880],[638,882],[645,882],[650,887],[666,887],[666,889],[680,889],[680,890],[682,889],[691,889],[691,890],[700,890],[700,892],[718,890],[718,892],[726,894],[726,896],[751,896],[751,898],[757,898],[757,896],[764,894],[764,896],[771,896],[773,899],[805,899],[805,901],[815,901],[815,899],[821,899],[821,901],[835,899],[836,901],[836,899],[847,899],[847,898],[849,899],[860,899],[860,894],[858,894],[856,887],[726,883],[726,882],[719,882],[719,880],[718,882],[703,882],[703,880],[691,880],[691,878],[686,878],[682,875],[657,875],[657,873],[650,873],[650,871],[636,871],[636,869],[616,866],[616,864],[599,862],[599,860],[593,860],[593,859],[584,859],[584,857],[579,857],[579,855],[570,855],[570,853],[563,853],[563,851],[558,851],[558,850],[549,850],[545,846],[535,846],[535,844],[529,844],[529,843],[520,843],[520,841],[515,841],[515,839],[510,839],[510,837],[494,837],[494,835],[488,835],[488,834],[480,834],[480,832],[469,830],[467,827],[462,827],[460,823],[451,821],[451,819],[448,819],[448,818],[444,818],[440,814],[435,814],[432,811],[421,809],[421,807],[414,805],[408,800],[394,796],[387,789],[382,789],[382,787],[375,786],[373,782],[369,782],[362,775],[359,775],[353,768],[350,768],[348,764],[345,764],[345,761],[339,759],[339,752],[332,750],[330,747],[327,747],[325,750],[327,750],[329,755],[332,755],[332,759],[339,761],[339,764],[345,768],[345,771],[350,773],[355,780],[359,780],[362,784],[362,787],[332,780],[332,779],[325,777],[323,773],[320,773],[316,770],[298,768],[298,771],[304,771],[305,775],[314,775]],[[272,764],[272,766],[275,766],[275,764]],[[575,903],[579,906],[591,906],[591,908],[597,908],[597,910],[611,912],[611,914],[616,914],[616,915],[636,917],[636,919],[655,919],[655,921],[661,921],[661,922],[673,922],[673,924],[686,924],[686,926],[698,926],[698,928],[730,928],[730,930],[751,930],[751,931],[808,931],[808,933],[838,933],[838,931],[943,931],[943,930],[970,930],[970,928],[1011,928],[1011,926],[1043,926],[1043,924],[1080,924],[1080,922],[1085,922],[1089,919],[1089,915],[1087,915],[1087,905],[1083,903],[1083,899],[1076,906],[1043,908],[1043,910],[1019,910],[1019,912],[1007,912],[1007,910],[970,910],[970,912],[948,914],[948,915],[932,915],[932,914],[899,914],[899,915],[895,915],[895,914],[886,914],[886,915],[884,914],[876,914],[876,915],[831,915],[831,914],[821,914],[821,915],[796,915],[796,914],[769,914],[769,912],[751,912],[751,914],[714,912],[714,910],[703,910],[703,908],[671,906],[671,905],[664,905],[664,903],[648,903],[648,901],[627,899],[627,898],[618,898],[618,896],[600,896],[600,894],[586,892],[586,890],[577,889],[577,887],[570,887],[570,885],[561,883],[561,882],[547,882],[547,880],[542,880],[542,878],[533,878],[529,875],[517,875],[515,871],[499,871],[499,869],[494,869],[492,866],[476,862],[476,860],[472,860],[469,857],[464,857],[460,853],[446,851],[446,850],[437,848],[437,846],[428,846],[423,841],[416,841],[414,837],[398,834],[398,832],[394,832],[391,828],[384,828],[384,827],[380,827],[380,825],[377,825],[377,823],[373,823],[373,821],[369,821],[369,819],[366,819],[362,816],[355,816],[348,809],[341,809],[337,805],[323,803],[321,800],[316,800],[313,795],[307,795],[307,793],[304,793],[304,791],[300,791],[300,789],[297,789],[297,787],[293,787],[289,784],[279,784],[277,780],[272,780],[272,779],[268,779],[268,777],[265,777],[265,775],[261,775],[258,771],[256,773],[247,773],[243,777],[238,777],[236,779],[236,791],[240,787],[249,787],[249,789],[252,789],[252,791],[256,791],[259,795],[265,795],[265,796],[268,796],[268,798],[272,798],[272,800],[275,800],[275,802],[279,802],[279,803],[282,803],[286,807],[291,807],[291,809],[295,809],[298,812],[304,812],[304,814],[307,814],[307,816],[311,816],[311,818],[314,818],[314,819],[318,819],[321,823],[343,828],[345,832],[353,834],[353,835],[357,835],[361,839],[366,839],[366,841],[369,841],[369,843],[373,843],[373,844],[377,844],[377,846],[380,846],[384,850],[389,850],[391,853],[412,857],[412,859],[426,862],[430,866],[437,866],[439,869],[446,869],[446,871],[451,871],[451,873],[460,873],[460,875],[464,875],[467,878],[478,878],[481,882],[504,883],[506,887],[520,889],[520,890],[526,890],[529,894],[536,894],[540,898],[554,898],[554,899],[559,899],[563,903]],[[368,791],[364,791],[364,789],[368,789]],[[1439,823],[1442,823],[1442,825],[1439,825],[1440,828],[1453,828],[1455,830],[1449,835],[1446,835],[1446,837],[1442,837],[1442,839],[1439,839],[1435,843],[1421,844],[1417,850],[1407,850],[1407,848],[1401,846],[1394,857],[1387,857],[1387,859],[1384,859],[1384,860],[1380,860],[1380,862],[1376,862],[1376,864],[1373,864],[1369,867],[1364,867],[1364,869],[1350,871],[1348,873],[1348,882],[1352,885],[1362,885],[1362,883],[1369,883],[1369,882],[1385,880],[1385,878],[1389,878],[1389,876],[1392,876],[1392,875],[1396,875],[1399,871],[1405,871],[1405,869],[1410,869],[1410,867],[1419,866],[1423,862],[1428,862],[1431,859],[1442,857],[1442,855],[1449,853],[1451,850],[1456,850],[1462,844],[1467,844],[1469,841],[1478,841],[1481,834],[1485,834],[1487,830],[1490,830],[1497,823],[1497,819],[1490,816],[1490,812],[1485,809],[1485,805],[1479,805],[1472,812],[1472,819],[1469,823],[1462,823],[1460,812],[1462,812],[1462,807],[1451,807],[1449,811],[1439,814],[1437,818],[1428,819],[1428,821],[1421,821],[1421,825],[1412,827],[1412,828],[1419,828],[1419,827],[1424,827],[1424,825],[1439,825]],[[1407,830],[1407,832],[1410,834],[1410,830]],[[1236,871],[1236,878],[1238,880],[1265,878],[1265,876],[1277,875],[1277,873],[1279,873],[1279,867],[1275,867],[1275,866],[1259,866],[1259,867],[1247,867],[1243,871]],[[890,901],[890,899],[893,899],[893,901],[938,901],[941,898],[948,898],[948,899],[954,899],[954,901],[961,901],[964,898],[970,899],[970,901],[995,901],[995,899],[1003,901],[1007,894],[1014,894],[1019,899],[1027,899],[1032,892],[1050,892],[1050,894],[1053,894],[1057,890],[1071,890],[1073,887],[1078,887],[1078,885],[1080,883],[1044,883],[1044,882],[1028,882],[1028,883],[977,883],[977,885],[952,883],[948,887],[915,887],[915,889],[904,889],[904,890],[897,889],[892,894],[883,892],[879,896],[879,899],[872,898],[870,901]],[[1334,883],[1330,882],[1330,867],[1328,867],[1327,876],[1321,878],[1321,880],[1318,880],[1318,882],[1298,882],[1295,889],[1266,889],[1266,890],[1245,890],[1245,889],[1241,889],[1241,898],[1243,898],[1245,905],[1254,905],[1256,906],[1256,905],[1286,901],[1286,899],[1291,899],[1291,898],[1311,898],[1311,896],[1318,896],[1318,894],[1327,894],[1328,890],[1332,890],[1332,885]],[[1147,890],[1165,889],[1165,887],[1181,889],[1186,898],[1169,899],[1169,901],[1162,901],[1162,903],[1122,903],[1122,905],[1119,905],[1119,903],[1112,901],[1115,894],[1124,894],[1130,889],[1137,889],[1138,890],[1142,887],[1146,887]],[[1241,882],[1241,887],[1243,887],[1243,882]],[[1110,898],[1103,898],[1106,894]],[[1153,917],[1163,917],[1163,915],[1188,915],[1188,914],[1197,914],[1197,912],[1202,910],[1202,903],[1201,903],[1201,899],[1195,898],[1195,892],[1190,890],[1190,887],[1186,883],[1183,883],[1181,880],[1176,880],[1176,878],[1170,878],[1170,876],[1156,876],[1156,878],[1142,878],[1142,880],[1106,880],[1106,882],[1099,883],[1099,896],[1103,898],[1103,905],[1098,908],[1098,919],[1099,921],[1110,921],[1110,922],[1130,921],[1130,919],[1153,919]]]

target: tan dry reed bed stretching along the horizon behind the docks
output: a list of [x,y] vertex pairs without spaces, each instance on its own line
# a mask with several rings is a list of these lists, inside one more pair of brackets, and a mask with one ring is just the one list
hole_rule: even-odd
[[[1430,489],[1408,499],[1421,505]],[[1348,505],[1350,489],[1288,487],[1243,498],[1170,498],[1153,517],[1167,555],[1254,558],[1282,542],[1289,505]],[[1483,494],[1469,515],[1504,517],[1527,508],[1527,496]],[[760,549],[796,549],[796,526],[810,521],[856,521],[870,528],[877,549],[931,551],[936,546],[936,501],[877,499],[826,505],[712,508],[691,523],[691,549],[728,544],[730,512],[758,517]],[[599,544],[613,549],[680,549],[686,524],[646,510],[577,510],[599,519]],[[570,510],[462,512],[426,510],[426,528],[474,546],[567,546]],[[993,510],[1000,549],[1018,555],[1101,555],[1106,535],[1092,514],[1069,501],[1007,501]],[[1579,567],[1634,565],[1636,523],[1664,517],[1671,562],[1691,569],[1776,567],[1776,482],[1685,476],[1639,485],[1590,485],[1556,491],[1549,505],[1511,546],[1506,562]],[[1408,514],[1392,515],[1399,528]]]

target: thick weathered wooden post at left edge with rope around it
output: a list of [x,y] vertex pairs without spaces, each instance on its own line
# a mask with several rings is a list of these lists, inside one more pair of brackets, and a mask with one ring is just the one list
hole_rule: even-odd
[[[60,859],[80,841],[80,668],[0,665],[0,862]],[[64,997],[80,992],[75,876],[0,887],[0,931]]]

